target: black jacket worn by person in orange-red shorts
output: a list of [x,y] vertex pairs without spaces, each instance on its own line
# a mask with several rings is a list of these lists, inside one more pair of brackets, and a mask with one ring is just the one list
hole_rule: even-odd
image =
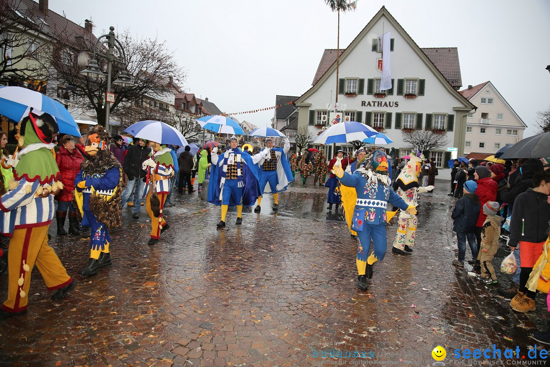
[[519,194],[514,201],[510,218],[510,242],[516,247],[520,241],[544,242],[550,226],[548,196],[529,189]]

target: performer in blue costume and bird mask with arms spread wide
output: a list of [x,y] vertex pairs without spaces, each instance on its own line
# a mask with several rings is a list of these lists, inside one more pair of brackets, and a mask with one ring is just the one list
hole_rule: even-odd
[[[357,288],[363,291],[368,289],[367,278],[372,278],[372,265],[386,255],[388,201],[401,210],[416,214],[415,207],[406,204],[390,187],[388,161],[385,152],[375,150],[354,174],[345,173],[342,167],[334,166],[334,173],[340,182],[355,188],[357,194],[351,229],[357,232]],[[345,200],[350,199],[353,200]],[[367,257],[371,238],[374,251]]]

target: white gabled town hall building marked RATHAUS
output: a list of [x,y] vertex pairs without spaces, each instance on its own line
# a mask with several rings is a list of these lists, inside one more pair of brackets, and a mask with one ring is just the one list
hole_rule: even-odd
[[[382,45],[378,37],[387,32],[391,38],[392,89],[381,91],[378,65]],[[446,144],[426,152],[439,168],[444,168],[451,157],[448,148],[456,147],[457,153],[463,154],[466,114],[474,105],[458,92],[461,76],[456,48],[420,48],[382,7],[340,51],[339,108],[331,111],[334,100],[329,100],[334,96],[336,51],[325,50],[313,86],[295,102],[299,107],[298,128],[307,127],[316,136],[336,118],[355,120],[388,135],[394,143],[386,148],[399,149],[401,156],[414,149],[403,140],[404,134],[426,130],[446,134]],[[332,146],[327,154],[332,157]]]

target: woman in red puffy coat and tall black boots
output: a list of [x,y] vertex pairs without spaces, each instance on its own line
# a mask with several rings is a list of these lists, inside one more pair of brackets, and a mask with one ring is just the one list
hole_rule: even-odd
[[57,200],[57,234],[67,235],[65,229],[65,217],[69,212],[69,233],[80,234],[80,224],[76,219],[76,209],[73,206],[74,196],[74,178],[80,171],[80,163],[84,161],[84,156],[75,148],[76,138],[71,135],[63,136],[62,145],[56,154],[57,167],[61,173],[61,183],[63,189],[56,195]]

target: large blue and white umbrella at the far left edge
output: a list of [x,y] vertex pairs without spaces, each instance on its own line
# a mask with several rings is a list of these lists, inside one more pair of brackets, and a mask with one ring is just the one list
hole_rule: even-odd
[[0,87],[0,114],[19,123],[29,114],[30,108],[38,109],[55,118],[60,133],[81,136],[74,118],[58,101],[19,86]]

